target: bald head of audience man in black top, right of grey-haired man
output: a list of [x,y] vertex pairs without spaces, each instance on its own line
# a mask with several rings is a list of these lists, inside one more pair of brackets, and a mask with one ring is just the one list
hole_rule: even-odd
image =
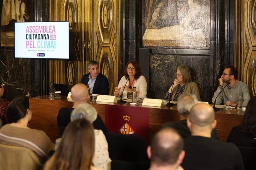
[[211,129],[216,127],[213,107],[206,103],[194,105],[188,115],[187,125],[191,135],[196,132],[197,135],[207,133],[207,136],[211,136]]

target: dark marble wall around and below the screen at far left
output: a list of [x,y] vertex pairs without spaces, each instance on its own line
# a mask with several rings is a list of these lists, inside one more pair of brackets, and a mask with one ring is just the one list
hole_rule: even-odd
[[[0,1],[0,19],[3,1]],[[29,21],[48,21],[48,0],[27,1]],[[2,98],[11,101],[20,95],[46,94],[48,64],[46,59],[14,58],[15,47],[0,47],[0,78],[6,86]]]

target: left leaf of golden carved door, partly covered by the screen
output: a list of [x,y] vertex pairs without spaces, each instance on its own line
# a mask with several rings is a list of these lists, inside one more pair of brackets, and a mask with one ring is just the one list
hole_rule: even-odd
[[69,60],[49,60],[50,81],[72,86],[80,81],[84,64],[80,0],[60,0],[50,3],[50,20],[69,21]]

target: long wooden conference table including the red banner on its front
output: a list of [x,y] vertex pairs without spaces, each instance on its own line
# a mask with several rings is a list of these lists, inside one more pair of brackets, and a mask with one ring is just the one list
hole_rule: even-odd
[[[55,143],[59,138],[57,123],[59,109],[72,108],[73,102],[68,101],[66,96],[50,99],[48,95],[44,95],[29,98],[29,103],[32,110],[31,128],[43,130]],[[141,134],[147,143],[163,123],[180,120],[176,106],[153,107],[141,104],[130,105],[129,102],[126,104],[89,102],[89,104],[97,110],[110,131],[124,133],[124,129],[129,129],[130,134]],[[230,130],[240,125],[243,116],[244,111],[226,111],[225,108],[215,112],[217,135],[221,141],[227,140]]]

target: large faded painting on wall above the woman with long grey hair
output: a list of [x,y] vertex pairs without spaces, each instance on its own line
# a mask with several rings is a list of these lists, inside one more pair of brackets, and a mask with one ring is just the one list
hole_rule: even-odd
[[210,48],[210,0],[144,0],[145,47]]

